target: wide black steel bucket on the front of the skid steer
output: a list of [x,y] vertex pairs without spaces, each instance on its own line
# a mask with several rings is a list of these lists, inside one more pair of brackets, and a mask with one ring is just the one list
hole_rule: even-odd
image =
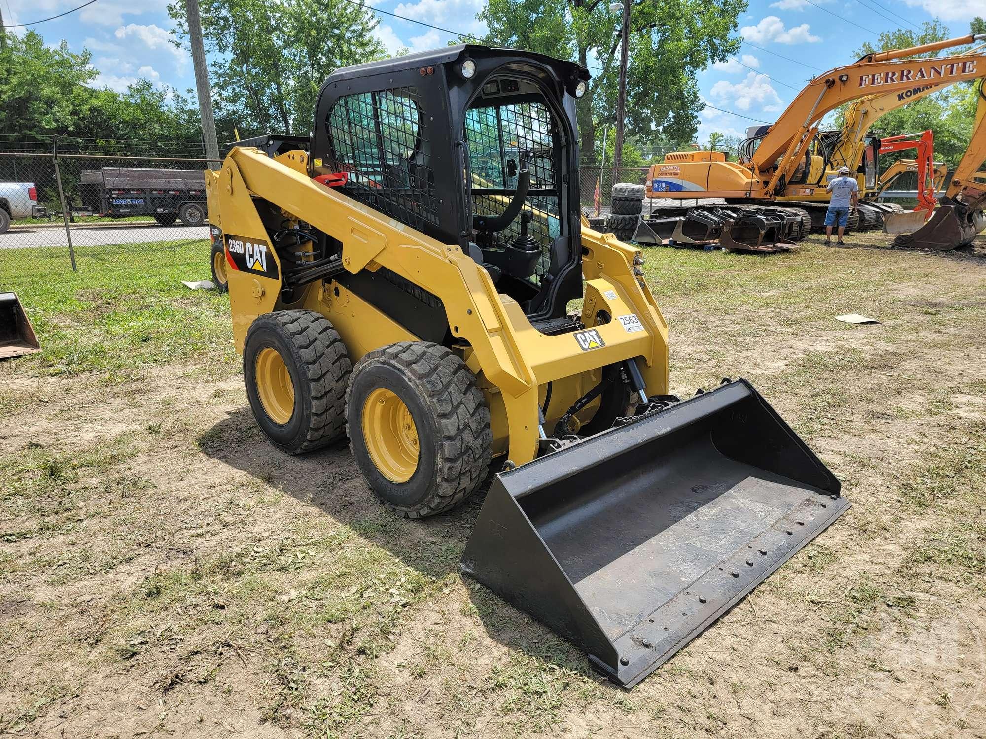
[[462,571],[630,688],[841,515],[745,380],[496,476]]

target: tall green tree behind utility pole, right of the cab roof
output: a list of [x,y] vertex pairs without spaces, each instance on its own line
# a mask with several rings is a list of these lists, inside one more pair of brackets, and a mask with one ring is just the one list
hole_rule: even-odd
[[[477,18],[485,42],[578,61],[593,80],[578,103],[583,157],[596,157],[597,128],[614,123],[620,17],[604,0],[489,0]],[[746,0],[635,0],[630,14],[627,137],[688,141],[703,103],[695,74],[740,49],[731,37]],[[467,40],[467,39],[463,39]]]

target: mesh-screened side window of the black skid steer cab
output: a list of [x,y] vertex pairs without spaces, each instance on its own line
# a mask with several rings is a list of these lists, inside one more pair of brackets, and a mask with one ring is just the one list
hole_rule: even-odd
[[439,223],[426,121],[408,87],[339,98],[325,122],[342,191],[418,231]]

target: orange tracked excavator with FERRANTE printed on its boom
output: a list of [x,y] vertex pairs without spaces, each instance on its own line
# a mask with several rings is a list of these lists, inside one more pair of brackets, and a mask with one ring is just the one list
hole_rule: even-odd
[[[719,240],[734,249],[790,248],[810,233],[810,213],[798,204],[788,205],[779,199],[815,194],[825,160],[812,153],[812,142],[825,114],[877,93],[906,93],[916,85],[977,80],[986,68],[986,53],[979,50],[934,58],[908,57],[982,40],[986,40],[986,34],[970,34],[880,51],[819,75],[763,135],[740,145],[740,162],[727,162],[720,152],[667,155],[664,164],[654,165],[648,173],[647,194],[678,201],[680,205],[652,212],[652,217],[641,223],[635,239],[657,243],[680,233],[694,241]],[[726,204],[687,207],[683,202],[695,198],[723,199]],[[971,228],[972,222],[966,221],[970,224],[967,228]],[[957,245],[956,242],[954,246]]]

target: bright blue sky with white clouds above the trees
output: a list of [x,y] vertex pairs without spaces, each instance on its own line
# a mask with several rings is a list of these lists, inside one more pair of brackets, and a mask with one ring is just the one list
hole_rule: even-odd
[[[30,23],[81,5],[85,0],[0,0],[7,25]],[[475,20],[482,0],[372,0],[371,4],[414,21],[463,34],[482,34]],[[193,87],[191,63],[171,42],[168,0],[98,0],[65,18],[33,27],[48,42],[68,41],[73,51],[93,52],[97,81],[125,90],[137,78]],[[920,26],[938,17],[953,35],[968,33],[973,16],[986,16],[986,0],[750,0],[740,17],[740,54],[698,76],[710,105],[702,113],[699,140],[718,130],[741,135],[755,123],[773,121],[814,74],[852,60],[852,52],[880,31]],[[20,30],[20,31],[23,31]],[[442,46],[452,34],[381,15],[377,29],[390,51]],[[785,58],[787,57],[787,58]],[[797,60],[797,61],[793,61]]]

